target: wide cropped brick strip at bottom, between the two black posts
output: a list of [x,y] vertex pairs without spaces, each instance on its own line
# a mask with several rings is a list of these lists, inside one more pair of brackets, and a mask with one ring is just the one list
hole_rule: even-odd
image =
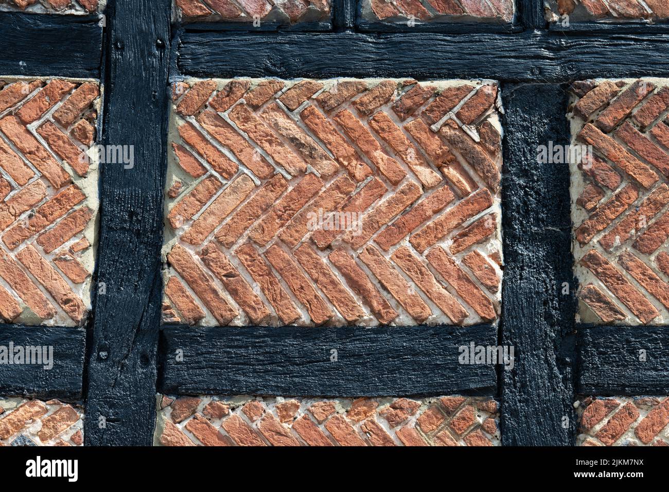
[[158,398],[163,446],[498,446],[489,398]]

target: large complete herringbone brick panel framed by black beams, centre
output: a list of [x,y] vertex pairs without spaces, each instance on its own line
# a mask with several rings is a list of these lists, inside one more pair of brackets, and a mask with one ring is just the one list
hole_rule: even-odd
[[497,88],[175,84],[166,323],[495,321]]

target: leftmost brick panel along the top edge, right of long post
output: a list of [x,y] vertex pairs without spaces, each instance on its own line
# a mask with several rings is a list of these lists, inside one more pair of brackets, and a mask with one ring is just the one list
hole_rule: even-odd
[[300,22],[330,21],[330,0],[175,0],[182,22]]

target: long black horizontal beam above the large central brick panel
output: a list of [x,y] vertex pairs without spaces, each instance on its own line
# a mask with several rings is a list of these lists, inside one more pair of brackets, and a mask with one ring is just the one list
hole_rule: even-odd
[[189,76],[492,78],[562,83],[666,76],[669,35],[185,32],[177,66]]

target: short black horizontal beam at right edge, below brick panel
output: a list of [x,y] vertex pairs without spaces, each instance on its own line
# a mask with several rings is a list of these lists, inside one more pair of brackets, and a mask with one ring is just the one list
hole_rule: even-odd
[[669,394],[667,327],[579,329],[578,351],[579,394]]

